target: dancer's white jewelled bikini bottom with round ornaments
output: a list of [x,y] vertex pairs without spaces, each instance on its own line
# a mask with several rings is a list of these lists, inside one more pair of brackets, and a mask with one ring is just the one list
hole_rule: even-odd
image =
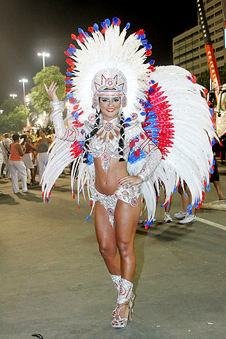
[[106,196],[106,194],[99,193],[95,187],[95,184],[90,187],[91,200],[93,203],[99,201],[105,207],[112,227],[114,227],[115,207],[118,199],[124,201],[124,203],[130,204],[132,207],[136,207],[138,205],[141,184],[134,184],[129,188],[127,188],[127,186],[128,184],[119,185],[118,189],[111,196]]

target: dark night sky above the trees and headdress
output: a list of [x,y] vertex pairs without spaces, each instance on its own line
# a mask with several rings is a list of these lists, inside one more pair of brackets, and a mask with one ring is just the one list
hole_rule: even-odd
[[119,17],[122,28],[130,22],[128,34],[145,30],[155,65],[170,65],[172,38],[197,24],[195,0],[0,0],[0,13],[0,105],[10,93],[22,100],[19,79],[29,80],[29,92],[34,75],[42,70],[38,52],[49,52],[46,66],[58,65],[65,74],[64,51],[70,43],[76,45],[70,35],[78,35],[78,28],[87,31],[95,22],[101,26],[104,19]]

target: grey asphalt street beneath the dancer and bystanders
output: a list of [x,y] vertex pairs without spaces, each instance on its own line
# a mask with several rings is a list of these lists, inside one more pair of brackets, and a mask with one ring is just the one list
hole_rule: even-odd
[[[226,167],[219,166],[226,194]],[[197,210],[182,226],[172,197],[164,223],[163,192],[156,222],[136,232],[136,294],[132,322],[113,329],[117,293],[95,239],[93,214],[72,199],[70,175],[61,175],[49,204],[40,187],[13,194],[0,179],[1,339],[223,339],[226,333],[226,211]],[[205,203],[218,200],[216,189]],[[35,337],[33,337],[35,338]],[[36,337],[37,338],[37,337]]]

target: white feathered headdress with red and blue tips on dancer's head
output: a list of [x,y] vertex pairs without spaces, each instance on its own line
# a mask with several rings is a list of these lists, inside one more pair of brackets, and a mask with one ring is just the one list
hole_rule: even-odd
[[[97,24],[89,27],[91,36],[82,29],[79,36],[72,34],[79,48],[70,45],[65,52],[70,56],[67,59],[69,77],[65,81],[70,86],[67,97],[73,104],[71,109],[76,111],[79,122],[88,120],[90,115],[93,117],[97,97],[103,95],[104,88],[114,88],[115,95],[118,90],[125,119],[143,111],[141,102],[150,88],[149,75],[154,63],[145,61],[151,55],[152,45],[148,45],[143,30],[126,39],[127,29],[129,24],[120,33],[120,19],[114,17],[113,22],[109,19],[102,22],[102,31]],[[144,120],[142,115],[139,118]]]

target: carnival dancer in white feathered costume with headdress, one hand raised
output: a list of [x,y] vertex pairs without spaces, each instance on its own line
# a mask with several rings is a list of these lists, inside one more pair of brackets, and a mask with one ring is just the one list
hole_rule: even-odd
[[161,187],[168,204],[179,182],[182,188],[186,182],[192,204],[199,207],[209,185],[215,136],[201,95],[204,88],[182,68],[147,63],[152,46],[145,32],[126,38],[127,29],[129,24],[120,32],[120,19],[114,17],[102,22],[101,31],[94,24],[90,34],[82,29],[79,36],[72,34],[79,48],[71,44],[65,52],[70,56],[67,128],[57,84],[45,85],[56,138],[49,148],[42,194],[49,202],[56,179],[73,162],[73,197],[76,184],[79,207],[81,192],[86,199],[86,185],[92,210],[95,206],[99,251],[118,290],[111,323],[116,328],[127,325],[133,310],[141,198],[147,206],[145,228],[154,218]]

